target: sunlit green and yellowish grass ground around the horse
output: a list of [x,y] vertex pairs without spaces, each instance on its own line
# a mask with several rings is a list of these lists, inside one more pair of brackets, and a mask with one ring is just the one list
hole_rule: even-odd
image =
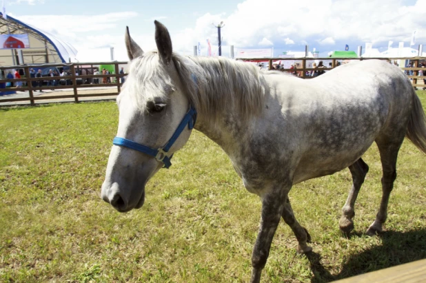
[[[0,281],[247,282],[261,205],[203,134],[150,181],[142,209],[120,214],[99,198],[117,114],[114,103],[0,108]],[[294,186],[314,253],[297,255],[282,222],[263,282],[329,282],[426,258],[425,156],[405,141],[385,232],[372,238],[375,146],[364,160],[352,237],[338,229],[347,169]]]

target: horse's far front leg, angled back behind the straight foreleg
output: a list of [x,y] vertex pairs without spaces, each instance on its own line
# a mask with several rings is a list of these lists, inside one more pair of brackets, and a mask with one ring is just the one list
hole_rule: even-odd
[[294,217],[292,205],[290,205],[290,199],[287,196],[283,209],[283,220],[290,226],[296,239],[298,241],[297,251],[298,253],[309,253],[312,251],[312,247],[307,245],[307,242],[311,242],[311,236],[307,233],[307,230],[301,226]]

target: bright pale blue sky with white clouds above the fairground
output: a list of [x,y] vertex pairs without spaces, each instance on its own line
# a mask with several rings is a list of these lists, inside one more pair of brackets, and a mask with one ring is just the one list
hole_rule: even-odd
[[[327,56],[335,50],[357,51],[365,43],[373,48],[408,47],[416,30],[416,44],[426,51],[426,0],[4,0],[10,16],[54,34],[78,50],[77,61],[128,61],[125,27],[144,51],[156,49],[154,19],[169,30],[173,50],[193,54],[201,45],[207,55],[219,54],[217,28],[221,28],[222,55],[234,48],[273,48],[274,56],[309,50]],[[75,61],[72,59],[72,61]]]

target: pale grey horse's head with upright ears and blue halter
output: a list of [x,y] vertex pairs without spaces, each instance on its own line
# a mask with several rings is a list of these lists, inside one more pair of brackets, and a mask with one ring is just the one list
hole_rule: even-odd
[[159,21],[154,23],[158,52],[143,52],[128,28],[125,33],[130,72],[116,100],[119,128],[101,191],[103,200],[120,212],[142,207],[145,184],[163,165],[170,166],[195,123],[196,112],[173,61],[170,34]]

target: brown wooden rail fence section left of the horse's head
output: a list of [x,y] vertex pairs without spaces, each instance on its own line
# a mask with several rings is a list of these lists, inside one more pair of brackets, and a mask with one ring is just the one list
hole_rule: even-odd
[[[19,101],[30,101],[31,105],[35,105],[36,101],[42,100],[57,100],[60,98],[72,98],[72,101],[79,102],[79,98],[85,97],[93,97],[93,96],[116,96],[121,91],[121,78],[127,76],[128,74],[119,74],[119,65],[127,64],[128,62],[97,62],[97,63],[54,63],[54,64],[41,64],[41,65],[19,65],[19,66],[8,66],[8,67],[0,67],[0,70],[12,70],[12,69],[23,69],[25,73],[25,77],[22,78],[4,78],[0,80],[0,83],[16,83],[16,82],[25,82],[26,86],[22,87],[0,87],[0,92],[28,92],[28,97],[20,97],[20,98],[8,98],[7,96],[3,96],[0,99],[0,103],[16,103]],[[83,65],[91,65],[91,67],[81,67]],[[88,70],[97,68],[99,70],[99,65],[114,65],[114,74],[79,74],[76,75],[77,70]],[[66,67],[70,70],[69,76],[42,76],[39,78],[30,77],[30,69],[40,69],[47,67]],[[101,72],[101,70],[99,70]],[[89,80],[86,80],[89,78]],[[85,81],[92,82],[93,79],[102,79],[102,78],[113,78],[111,83],[85,83]],[[65,81],[67,85],[43,85],[45,81]],[[33,82],[34,85],[33,85]],[[41,82],[41,87],[39,87],[39,82]],[[70,84],[68,84],[70,83]],[[98,92],[92,94],[79,94],[79,90],[90,90],[92,87],[116,87],[116,92]],[[34,96],[34,92],[43,91],[43,90],[64,90],[64,89],[72,89],[72,94],[67,95],[47,95],[47,96]],[[46,93],[48,94],[48,93]],[[49,92],[50,94],[50,92]]]

